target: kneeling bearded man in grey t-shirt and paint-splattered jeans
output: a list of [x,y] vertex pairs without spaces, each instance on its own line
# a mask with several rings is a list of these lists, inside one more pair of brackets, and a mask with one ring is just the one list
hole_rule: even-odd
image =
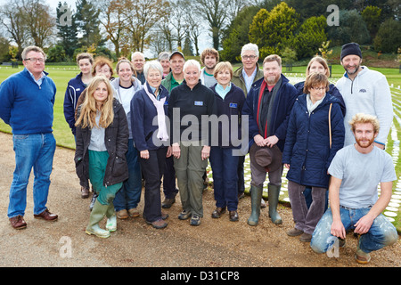
[[[346,232],[354,230],[359,235],[356,262],[367,264],[371,260],[370,252],[398,240],[396,228],[381,214],[389,204],[397,175],[390,155],[374,144],[379,134],[379,120],[358,113],[349,125],[356,143],[338,151],[331,161],[330,208],[315,227],[311,248],[323,253],[333,245],[343,247]],[[337,238],[340,238],[338,243]]]

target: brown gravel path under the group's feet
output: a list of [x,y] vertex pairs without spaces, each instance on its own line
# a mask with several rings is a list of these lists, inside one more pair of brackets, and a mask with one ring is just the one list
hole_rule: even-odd
[[[290,238],[293,227],[291,208],[280,206],[282,225],[274,225],[262,209],[257,227],[247,224],[250,198],[241,199],[240,221],[228,215],[211,218],[214,199],[208,189],[203,197],[205,216],[201,225],[177,219],[181,211],[177,200],[168,213],[168,227],[153,229],[142,217],[118,220],[118,231],[103,240],[85,233],[89,218],[89,199],[81,199],[75,174],[74,151],[57,148],[47,206],[59,215],[55,223],[33,218],[32,179],[29,182],[25,230],[12,229],[6,216],[14,169],[12,136],[0,133],[0,266],[57,267],[400,267],[401,242],[372,253],[369,265],[354,259],[356,238],[348,234],[346,248],[338,258],[317,255],[308,244]],[[143,208],[143,199],[139,208]]]

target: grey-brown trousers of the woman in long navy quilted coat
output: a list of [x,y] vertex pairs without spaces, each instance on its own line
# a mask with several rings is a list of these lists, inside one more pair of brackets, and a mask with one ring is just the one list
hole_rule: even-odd
[[295,222],[295,228],[312,234],[315,226],[324,214],[326,189],[312,187],[312,204],[307,208],[307,201],[303,194],[304,185],[288,182],[288,195],[291,201],[292,216]]

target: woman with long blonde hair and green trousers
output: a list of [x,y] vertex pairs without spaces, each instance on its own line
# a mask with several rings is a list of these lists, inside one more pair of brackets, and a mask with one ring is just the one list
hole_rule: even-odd
[[[117,230],[113,199],[128,178],[127,116],[122,105],[113,99],[107,77],[96,76],[87,87],[85,101],[78,107],[76,171],[89,179],[99,195],[94,203],[87,234],[108,238]],[[107,216],[106,230],[99,222]]]

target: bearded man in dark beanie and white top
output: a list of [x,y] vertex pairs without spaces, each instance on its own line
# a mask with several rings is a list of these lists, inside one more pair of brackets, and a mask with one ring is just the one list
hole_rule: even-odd
[[344,145],[355,142],[354,135],[348,127],[348,121],[356,113],[365,113],[379,119],[381,131],[374,143],[384,150],[393,121],[389,83],[380,72],[361,65],[362,52],[356,43],[348,43],[342,46],[340,62],[346,70],[344,76],[336,84],[347,108],[344,117],[346,128]]

